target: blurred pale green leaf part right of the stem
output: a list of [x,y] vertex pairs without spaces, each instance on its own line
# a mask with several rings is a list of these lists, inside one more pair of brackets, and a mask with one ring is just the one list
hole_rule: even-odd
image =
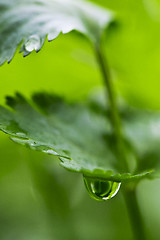
[[138,158],[138,170],[160,169],[160,112],[125,109],[124,132]]

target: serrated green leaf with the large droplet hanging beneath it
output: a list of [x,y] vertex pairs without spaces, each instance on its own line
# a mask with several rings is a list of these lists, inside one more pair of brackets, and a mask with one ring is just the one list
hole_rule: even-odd
[[32,97],[35,107],[20,94],[7,97],[7,104],[13,111],[0,107],[0,129],[17,143],[58,156],[68,170],[112,181],[150,173],[148,169],[137,174],[118,169],[114,145],[111,148],[109,143],[109,121],[90,104],[69,104],[43,93]]

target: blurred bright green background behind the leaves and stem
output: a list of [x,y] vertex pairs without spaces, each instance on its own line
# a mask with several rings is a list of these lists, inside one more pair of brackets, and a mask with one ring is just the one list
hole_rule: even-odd
[[[160,109],[160,1],[94,2],[116,11],[119,22],[105,37],[117,92],[136,107]],[[73,100],[101,86],[92,47],[74,32],[46,42],[38,54],[17,53],[0,68],[0,79],[1,104],[15,91],[29,97],[45,90]],[[148,239],[159,239],[159,188],[160,180],[143,180],[138,187]],[[0,239],[129,240],[132,234],[121,193],[96,202],[82,176],[0,133]]]

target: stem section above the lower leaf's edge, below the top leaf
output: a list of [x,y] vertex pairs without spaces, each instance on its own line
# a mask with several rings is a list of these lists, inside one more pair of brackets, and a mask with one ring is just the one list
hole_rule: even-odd
[[117,145],[118,158],[120,160],[119,166],[123,170],[128,171],[127,156],[126,156],[126,150],[125,150],[124,139],[122,134],[121,122],[120,122],[117,103],[116,103],[114,86],[111,80],[111,75],[110,75],[109,67],[107,64],[107,60],[105,58],[105,55],[103,54],[102,47],[99,43],[95,45],[95,52],[96,52],[96,58],[99,64],[99,68],[103,76],[104,84],[106,86],[107,96],[109,99],[111,125],[113,128],[113,135],[115,137],[115,141]]

